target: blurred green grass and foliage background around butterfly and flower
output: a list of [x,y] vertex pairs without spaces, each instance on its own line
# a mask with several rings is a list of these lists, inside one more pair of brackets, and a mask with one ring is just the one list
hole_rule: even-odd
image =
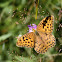
[[[62,62],[62,0],[38,1],[0,1],[0,62]],[[54,16],[55,47],[45,54],[37,54],[31,48],[17,47],[16,37],[27,33],[28,25],[38,25],[48,15]]]

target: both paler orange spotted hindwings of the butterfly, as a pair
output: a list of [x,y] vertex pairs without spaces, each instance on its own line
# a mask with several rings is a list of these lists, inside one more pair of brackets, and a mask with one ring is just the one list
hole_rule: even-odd
[[35,51],[37,53],[45,53],[49,48],[55,46],[55,37],[52,33],[42,33],[36,32],[36,40],[35,40]]

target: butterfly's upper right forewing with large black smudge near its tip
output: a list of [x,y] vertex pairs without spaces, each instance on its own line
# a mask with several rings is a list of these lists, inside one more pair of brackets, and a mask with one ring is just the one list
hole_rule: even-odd
[[37,31],[52,33],[53,31],[53,16],[45,17],[37,26]]

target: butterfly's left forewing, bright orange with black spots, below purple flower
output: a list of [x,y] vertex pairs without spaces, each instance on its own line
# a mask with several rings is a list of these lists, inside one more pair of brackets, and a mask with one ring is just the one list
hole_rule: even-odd
[[30,32],[30,33],[27,33],[23,36],[21,36],[16,45],[18,47],[31,47],[33,48],[34,47],[34,40],[35,39],[35,34],[33,32]]

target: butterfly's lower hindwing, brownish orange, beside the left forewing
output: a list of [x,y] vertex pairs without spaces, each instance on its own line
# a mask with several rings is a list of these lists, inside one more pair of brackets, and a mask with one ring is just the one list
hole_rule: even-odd
[[39,36],[36,36],[34,49],[37,53],[43,54],[48,50],[48,47],[43,43],[42,38],[40,38]]

